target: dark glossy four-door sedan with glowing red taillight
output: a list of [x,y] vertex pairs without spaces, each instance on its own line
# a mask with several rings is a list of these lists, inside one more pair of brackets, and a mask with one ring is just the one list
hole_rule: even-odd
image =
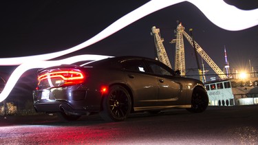
[[103,120],[123,121],[129,113],[160,113],[183,108],[205,111],[204,83],[185,78],[160,61],[116,56],[40,69],[33,92],[37,112],[58,113],[68,121],[99,113]]

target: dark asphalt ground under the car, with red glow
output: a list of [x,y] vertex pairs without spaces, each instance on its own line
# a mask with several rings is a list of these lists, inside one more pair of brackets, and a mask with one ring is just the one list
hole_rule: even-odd
[[133,113],[124,122],[98,114],[76,122],[56,115],[0,118],[0,144],[258,144],[258,105]]

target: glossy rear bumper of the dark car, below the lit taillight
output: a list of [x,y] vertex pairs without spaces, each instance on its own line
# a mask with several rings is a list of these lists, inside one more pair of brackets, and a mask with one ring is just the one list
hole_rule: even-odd
[[[43,91],[49,91],[47,98]],[[85,114],[100,111],[101,93],[78,86],[44,89],[33,92],[34,108],[37,112],[66,112]]]

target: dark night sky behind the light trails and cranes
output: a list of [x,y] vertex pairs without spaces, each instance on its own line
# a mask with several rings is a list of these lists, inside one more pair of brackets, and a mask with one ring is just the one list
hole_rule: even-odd
[[[68,49],[87,41],[105,27],[148,1],[1,1],[0,3],[0,58],[46,54]],[[258,1],[226,1],[242,10],[258,8]],[[151,27],[160,28],[164,47],[174,64],[177,21],[189,33],[193,28],[195,41],[221,67],[225,65],[224,46],[230,69],[249,69],[249,60],[258,71],[258,26],[241,31],[223,30],[209,21],[189,2],[169,6],[132,23],[115,34],[78,52],[110,56],[147,56],[154,58]],[[186,69],[197,64],[193,48],[186,39]],[[200,57],[200,56],[199,56]],[[208,65],[204,65],[206,69]],[[16,66],[14,66],[16,67]],[[14,68],[12,67],[12,68]],[[0,66],[1,71],[8,67]],[[9,70],[9,69],[8,69]],[[11,70],[11,69],[10,69]],[[186,74],[187,75],[187,74]]]

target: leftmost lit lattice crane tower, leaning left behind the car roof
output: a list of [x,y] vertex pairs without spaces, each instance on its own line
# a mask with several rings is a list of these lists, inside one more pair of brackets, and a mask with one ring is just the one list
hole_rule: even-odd
[[165,65],[169,66],[170,68],[172,68],[171,64],[169,62],[169,58],[166,55],[166,49],[163,45],[164,39],[161,38],[161,36],[160,36],[160,29],[153,26],[151,28],[151,35],[154,36],[154,43],[155,43],[155,47],[156,47],[156,51],[157,51],[158,60],[160,62],[164,63]]

